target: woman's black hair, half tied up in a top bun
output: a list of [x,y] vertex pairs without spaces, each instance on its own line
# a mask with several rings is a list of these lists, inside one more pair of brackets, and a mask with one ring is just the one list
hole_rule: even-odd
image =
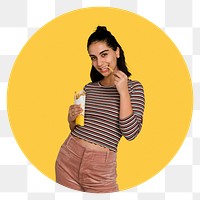
[[[96,31],[90,35],[87,42],[87,50],[93,42],[100,41],[104,41],[114,51],[116,51],[117,47],[119,47],[120,57],[117,58],[117,67],[119,70],[124,72],[127,77],[130,77],[131,73],[128,71],[128,68],[126,66],[124,51],[115,39],[115,37],[111,34],[110,31],[107,30],[105,26],[98,26]],[[92,69],[90,71],[90,78],[92,82],[96,82],[102,80],[104,77],[94,68],[94,66],[92,66]]]

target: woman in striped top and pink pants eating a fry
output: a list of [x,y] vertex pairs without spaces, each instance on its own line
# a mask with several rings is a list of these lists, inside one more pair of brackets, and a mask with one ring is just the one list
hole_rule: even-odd
[[84,87],[85,125],[76,126],[82,109],[70,106],[71,133],[56,160],[56,182],[85,192],[115,192],[117,146],[122,136],[133,140],[142,128],[143,87],[128,79],[124,52],[106,27],[90,35],[87,50],[92,82]]

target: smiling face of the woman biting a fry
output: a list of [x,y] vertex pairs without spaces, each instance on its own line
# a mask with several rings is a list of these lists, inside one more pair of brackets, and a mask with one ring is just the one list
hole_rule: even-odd
[[104,77],[111,74],[113,70],[117,67],[117,58],[119,58],[119,48],[116,51],[107,46],[106,42],[93,42],[89,48],[88,53],[92,61],[92,65],[95,69],[101,73]]

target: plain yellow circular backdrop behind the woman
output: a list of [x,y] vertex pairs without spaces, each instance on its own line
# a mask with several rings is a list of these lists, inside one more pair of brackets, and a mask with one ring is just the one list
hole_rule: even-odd
[[55,180],[55,160],[69,134],[67,112],[74,91],[90,82],[86,43],[105,25],[125,52],[132,80],[145,91],[143,128],[121,139],[117,172],[120,190],[136,186],[163,169],[187,134],[193,106],[192,84],[180,52],[148,20],[114,8],[86,8],[42,27],[24,46],[8,85],[8,115],[24,154]]

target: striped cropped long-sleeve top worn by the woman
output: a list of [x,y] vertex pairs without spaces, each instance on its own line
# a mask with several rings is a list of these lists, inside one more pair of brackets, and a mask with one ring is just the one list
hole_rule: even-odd
[[117,151],[120,138],[133,140],[142,128],[144,91],[138,81],[128,79],[128,90],[133,113],[119,118],[120,96],[116,87],[102,86],[99,82],[89,83],[86,92],[85,125],[76,126],[71,132],[86,141]]

